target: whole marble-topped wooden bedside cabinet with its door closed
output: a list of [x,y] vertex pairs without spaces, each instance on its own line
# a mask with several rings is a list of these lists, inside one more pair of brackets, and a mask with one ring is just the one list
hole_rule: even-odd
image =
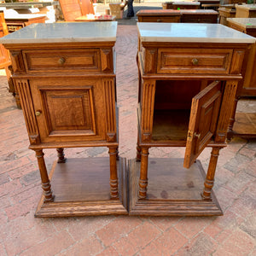
[[[128,213],[125,159],[117,160],[116,30],[117,22],[37,24],[1,39],[38,158],[36,217]],[[63,148],[77,147],[108,147],[109,158],[66,160]],[[44,148],[58,152],[49,176]]]

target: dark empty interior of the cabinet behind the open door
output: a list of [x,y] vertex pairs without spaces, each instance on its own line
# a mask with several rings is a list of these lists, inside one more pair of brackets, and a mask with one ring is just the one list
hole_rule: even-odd
[[199,80],[156,81],[152,133],[154,141],[187,140],[192,98],[204,87]]

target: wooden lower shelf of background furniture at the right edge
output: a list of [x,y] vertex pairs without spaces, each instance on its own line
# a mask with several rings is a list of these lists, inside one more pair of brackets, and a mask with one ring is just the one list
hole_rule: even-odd
[[256,137],[256,113],[236,112],[232,136]]

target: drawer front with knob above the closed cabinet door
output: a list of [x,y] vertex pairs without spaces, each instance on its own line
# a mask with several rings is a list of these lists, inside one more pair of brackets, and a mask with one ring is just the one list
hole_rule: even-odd
[[101,71],[99,49],[24,50],[23,57],[27,73]]

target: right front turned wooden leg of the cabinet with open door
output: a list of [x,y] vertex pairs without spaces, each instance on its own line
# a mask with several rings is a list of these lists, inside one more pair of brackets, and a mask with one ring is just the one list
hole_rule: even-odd
[[204,200],[211,200],[211,192],[214,183],[214,175],[218,161],[218,153],[221,148],[212,148],[211,159],[208,166],[207,177],[205,180],[205,188],[201,194]]

